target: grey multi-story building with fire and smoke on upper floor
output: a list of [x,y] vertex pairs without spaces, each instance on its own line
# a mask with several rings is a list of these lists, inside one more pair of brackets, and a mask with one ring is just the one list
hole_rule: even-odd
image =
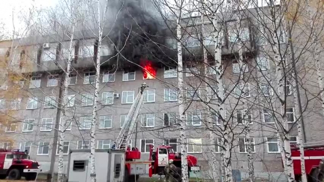
[[[197,17],[194,20],[198,20]],[[191,20],[191,19],[190,19]],[[184,20],[185,21],[185,20]],[[208,22],[205,23],[205,40],[199,41],[198,35],[201,34],[199,21],[193,21],[196,25],[188,26],[184,31],[184,62],[185,62],[185,84],[188,109],[186,111],[187,119],[187,137],[188,153],[198,157],[202,169],[208,168],[208,148],[210,130],[217,135],[215,152],[221,150],[218,126],[221,124],[217,115],[213,115],[213,124],[207,122],[206,102],[202,102],[206,96],[216,90],[215,63],[210,59],[208,65],[207,85],[203,83],[204,64],[196,58],[201,54],[204,43],[207,50],[213,52],[212,43],[213,27]],[[247,169],[246,143],[244,135],[243,108],[248,110],[246,113],[250,122],[251,140],[254,144],[254,165],[256,173],[282,172],[282,163],[276,135],[274,133],[274,120],[270,110],[271,104],[267,103],[267,98],[275,98],[273,88],[276,83],[273,74],[275,66],[269,59],[269,52],[260,50],[270,50],[271,40],[267,33],[257,37],[255,25],[257,22],[251,17],[245,17],[240,20],[241,26],[237,26],[235,21],[228,20],[222,25],[220,34],[221,52],[224,69],[224,87],[225,87],[225,115],[224,118],[230,123],[233,135],[232,148],[232,166],[234,169],[240,169],[243,172]],[[200,22],[201,24],[201,22]],[[270,24],[270,23],[269,23]],[[192,33],[195,31],[195,33]],[[244,55],[243,72],[241,71],[236,57],[240,48],[236,45],[239,37],[243,43],[242,53]],[[189,33],[188,33],[189,32]],[[282,35],[278,32],[278,35]],[[282,39],[281,39],[282,38]],[[263,40],[260,41],[260,40]],[[170,40],[170,39],[168,39]],[[280,40],[284,41],[283,37]],[[167,41],[172,42],[172,41]],[[1,109],[6,116],[16,121],[9,123],[10,127],[4,128],[3,147],[8,148],[13,145],[14,148],[28,150],[32,159],[42,164],[44,171],[50,169],[50,163],[53,162],[52,154],[57,154],[56,142],[57,134],[61,120],[66,120],[71,124],[65,130],[64,157],[67,161],[70,149],[84,149],[89,147],[90,123],[93,105],[93,91],[95,81],[95,69],[93,56],[97,51],[96,38],[78,38],[74,44],[73,73],[68,77],[63,77],[62,69],[66,67],[66,57],[68,52],[69,40],[58,41],[51,36],[48,38],[26,38],[21,40],[0,42],[0,53],[3,63],[8,63],[3,67],[4,80],[3,91],[1,91]],[[283,46],[284,42],[282,42]],[[234,45],[234,46],[233,46]],[[170,48],[176,48],[175,45],[169,45]],[[261,49],[262,48],[262,49]],[[195,52],[190,55],[189,52]],[[180,152],[179,130],[177,127],[178,115],[178,93],[177,93],[177,70],[172,62],[144,62],[153,69],[156,74],[154,77],[144,78],[147,75],[138,65],[126,64],[123,67],[119,64],[106,63],[107,60],[115,54],[113,46],[108,41],[103,42],[101,52],[101,61],[103,63],[100,75],[100,104],[98,109],[98,125],[96,131],[97,148],[110,148],[112,142],[116,139],[118,132],[125,121],[126,115],[138,93],[139,86],[146,82],[149,86],[145,91],[145,104],[141,110],[141,116],[138,118],[138,126],[132,146],[136,146],[141,152],[142,160],[149,158],[150,144],[169,144],[173,146],[176,152]],[[210,53],[212,54],[212,53]],[[271,53],[270,53],[271,54]],[[273,54],[272,54],[273,55]],[[192,58],[195,57],[195,58]],[[268,57],[268,58],[267,58]],[[145,55],[143,55],[145,58]],[[27,61],[24,61],[27,60]],[[95,59],[94,59],[95,60]],[[198,60],[198,61],[197,61]],[[125,60],[124,60],[125,61]],[[152,63],[152,64],[151,64]],[[131,66],[129,66],[131,65]],[[6,68],[6,69],[4,69]],[[152,73],[152,72],[150,72]],[[244,74],[245,84],[240,80],[240,74]],[[24,76],[15,78],[12,75]],[[265,76],[270,77],[270,81]],[[273,79],[272,79],[273,78]],[[62,98],[63,80],[69,80],[69,95]],[[314,80],[314,79],[313,79]],[[273,82],[273,85],[270,83]],[[17,87],[18,85],[18,87]],[[304,85],[304,88],[309,86]],[[292,97],[292,86],[289,81],[286,83],[287,108],[286,116],[291,126],[296,126],[295,105]],[[315,84],[316,87],[316,84]],[[199,89],[198,89],[199,88]],[[207,88],[204,89],[204,88]],[[18,90],[18,91],[15,91]],[[316,90],[316,89],[315,89]],[[315,91],[314,91],[315,92]],[[302,95],[304,96],[304,95]],[[244,104],[239,102],[242,97],[247,101]],[[275,100],[275,99],[274,99]],[[302,100],[304,101],[304,100]],[[210,107],[216,111],[216,104],[219,102],[217,95],[213,94]],[[270,102],[271,103],[271,102]],[[315,101],[313,105],[318,105]],[[64,104],[65,110],[57,108],[59,104]],[[304,117],[306,138],[308,141],[320,141],[322,139],[320,118],[321,115],[315,112],[315,108],[305,107],[307,117]],[[276,104],[273,104],[276,106]],[[272,105],[272,106],[273,106]],[[63,112],[65,117],[63,116]],[[215,116],[215,117],[214,117]],[[296,128],[296,127],[295,127]],[[293,127],[291,130],[291,143],[297,143],[297,131]],[[136,139],[135,139],[136,138]],[[53,151],[54,150],[54,151]],[[219,156],[219,155],[218,155]],[[57,161],[57,155],[54,156]],[[52,160],[52,161],[51,161]],[[65,163],[65,169],[67,162]],[[56,170],[55,162],[54,170]]]

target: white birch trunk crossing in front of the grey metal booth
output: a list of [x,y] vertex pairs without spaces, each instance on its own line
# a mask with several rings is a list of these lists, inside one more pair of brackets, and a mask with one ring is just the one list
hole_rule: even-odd
[[97,123],[97,105],[98,105],[98,96],[99,96],[99,79],[100,79],[100,51],[102,44],[102,36],[103,36],[103,27],[101,25],[101,17],[100,17],[100,0],[97,0],[97,8],[98,8],[98,49],[96,54],[96,84],[95,91],[93,97],[93,110],[92,110],[92,121],[91,121],[91,132],[90,132],[90,179],[91,182],[96,182],[96,160],[95,160],[95,149],[96,149],[96,123]]

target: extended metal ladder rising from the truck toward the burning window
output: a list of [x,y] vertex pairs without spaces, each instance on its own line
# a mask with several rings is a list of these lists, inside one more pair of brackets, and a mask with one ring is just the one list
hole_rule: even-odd
[[146,87],[146,83],[143,83],[130,111],[127,114],[126,120],[116,139],[115,145],[117,150],[125,151],[128,147],[129,141],[131,141],[139,111],[144,104],[144,90]]

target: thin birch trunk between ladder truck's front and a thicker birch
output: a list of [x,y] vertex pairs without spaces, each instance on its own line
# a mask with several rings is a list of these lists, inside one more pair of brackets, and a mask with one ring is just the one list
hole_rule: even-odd
[[[207,50],[204,44],[204,38],[205,38],[205,25],[204,25],[204,15],[201,15],[201,31],[202,31],[202,44],[203,44],[203,56],[204,56],[204,64],[205,64],[205,76],[204,79],[205,83],[208,82],[208,76],[210,75],[209,73],[209,64],[208,64],[208,58],[207,58]],[[213,93],[211,88],[208,88],[207,84],[205,85],[205,89],[206,89],[206,102],[207,102],[207,126],[210,127],[210,131],[209,131],[209,135],[210,135],[210,145],[209,145],[209,149],[208,152],[211,153],[211,157],[212,160],[208,160],[209,166],[212,168],[212,178],[214,180],[214,182],[218,181],[218,175],[217,175],[217,157],[216,157],[216,153],[215,153],[215,142],[216,142],[216,138],[215,138],[215,133],[213,131],[213,126],[214,126],[214,122],[213,122],[213,118],[212,118],[212,109],[211,109],[211,95]],[[209,90],[211,90],[209,92]]]

